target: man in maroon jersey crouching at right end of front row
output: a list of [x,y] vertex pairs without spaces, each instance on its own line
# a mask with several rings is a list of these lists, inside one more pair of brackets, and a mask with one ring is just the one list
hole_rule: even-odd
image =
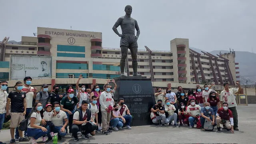
[[220,124],[223,124],[228,131],[230,131],[232,134],[234,134],[234,119],[233,114],[230,109],[228,109],[228,103],[223,102],[223,107],[220,108],[217,112],[217,132],[220,131]]

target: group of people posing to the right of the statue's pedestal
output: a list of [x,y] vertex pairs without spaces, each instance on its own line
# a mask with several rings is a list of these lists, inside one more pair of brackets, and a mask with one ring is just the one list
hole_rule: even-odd
[[229,84],[224,83],[220,94],[211,89],[214,84],[210,87],[205,84],[204,90],[198,86],[195,91],[190,89],[187,93],[181,86],[176,93],[171,88],[165,92],[157,88],[156,104],[151,108],[150,118],[154,124],[163,126],[173,124],[174,127],[187,125],[193,128],[196,124],[202,131],[213,130],[217,126],[217,132],[221,132],[222,124],[222,129],[234,133],[234,130],[239,130],[234,94],[241,90],[240,84],[236,84],[238,88],[229,88]]

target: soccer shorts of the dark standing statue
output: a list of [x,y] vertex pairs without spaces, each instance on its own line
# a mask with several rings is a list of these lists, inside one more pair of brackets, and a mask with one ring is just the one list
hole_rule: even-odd
[[120,40],[120,47],[121,46],[127,46],[129,48],[138,48],[137,40],[135,39],[134,34],[124,34],[124,38],[121,37]]

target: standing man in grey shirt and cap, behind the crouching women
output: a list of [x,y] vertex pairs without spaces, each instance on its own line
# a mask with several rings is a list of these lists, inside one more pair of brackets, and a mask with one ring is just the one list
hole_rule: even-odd
[[42,84],[41,91],[36,94],[36,102],[40,102],[44,108],[48,102],[49,95],[48,85]]

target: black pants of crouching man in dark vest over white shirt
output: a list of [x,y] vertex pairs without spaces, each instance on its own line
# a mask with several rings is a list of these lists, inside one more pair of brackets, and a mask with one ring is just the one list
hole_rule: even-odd
[[72,136],[77,137],[77,132],[81,131],[82,134],[89,134],[91,132],[93,132],[94,130],[96,130],[97,126],[95,124],[90,124],[87,123],[84,126],[79,126],[76,124],[72,125]]

